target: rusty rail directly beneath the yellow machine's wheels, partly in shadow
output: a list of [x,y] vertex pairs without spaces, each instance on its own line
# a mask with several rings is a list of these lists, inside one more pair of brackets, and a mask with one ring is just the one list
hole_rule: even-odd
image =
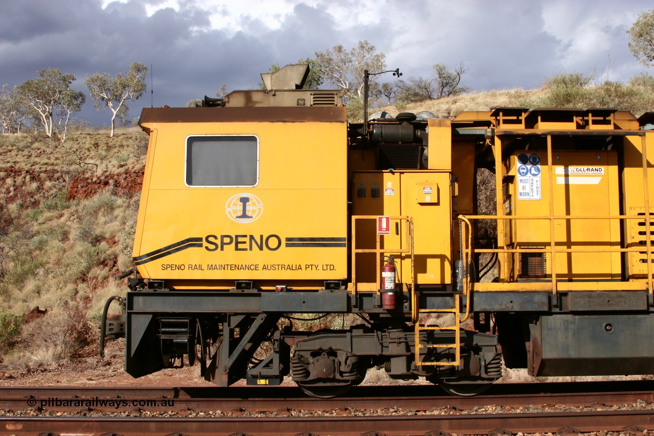
[[[56,399],[61,404],[57,405]],[[71,405],[72,401],[92,400],[89,406]],[[151,399],[165,405],[116,407],[101,405],[100,399],[131,401]],[[239,410],[267,412],[275,410],[388,409],[390,407],[430,410],[439,407],[472,409],[475,406],[503,405],[521,407],[534,404],[560,404],[571,407],[622,405],[636,401],[654,401],[654,382],[575,382],[545,384],[498,384],[489,393],[476,397],[443,395],[435,386],[362,386],[349,395],[333,399],[307,397],[297,388],[107,388],[107,387],[0,387],[0,410]],[[44,405],[42,406],[42,402]],[[81,403],[81,402],[80,402]]]

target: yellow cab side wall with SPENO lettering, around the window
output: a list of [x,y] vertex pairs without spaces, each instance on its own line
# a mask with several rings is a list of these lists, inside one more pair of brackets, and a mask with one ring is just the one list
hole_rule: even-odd
[[[158,122],[144,128],[151,140],[133,251],[144,278],[224,280],[230,287],[234,280],[347,278],[345,122]],[[187,186],[191,135],[256,136],[257,185]],[[258,208],[256,219],[232,219],[239,195]]]

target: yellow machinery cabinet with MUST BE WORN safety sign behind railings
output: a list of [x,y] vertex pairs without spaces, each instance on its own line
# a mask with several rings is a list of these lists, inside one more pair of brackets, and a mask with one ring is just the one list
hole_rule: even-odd
[[[538,156],[540,165],[524,165],[519,156]],[[597,249],[596,252],[557,253],[559,280],[606,280],[621,278],[620,253],[602,252],[620,247],[617,219],[593,219],[593,215],[619,215],[617,154],[611,151],[556,152],[553,154],[554,215],[586,215],[586,219],[555,221],[555,247]],[[540,170],[533,168],[538,166]],[[547,154],[517,151],[509,159],[508,193],[504,211],[513,216],[549,215]],[[528,168],[525,169],[525,168]],[[534,177],[534,173],[538,173]],[[515,176],[513,176],[515,174]],[[551,247],[550,223],[546,219],[504,222],[506,242],[515,248]],[[514,256],[518,274],[519,255]],[[551,274],[550,253],[545,255],[546,274]],[[523,276],[523,278],[526,278]]]

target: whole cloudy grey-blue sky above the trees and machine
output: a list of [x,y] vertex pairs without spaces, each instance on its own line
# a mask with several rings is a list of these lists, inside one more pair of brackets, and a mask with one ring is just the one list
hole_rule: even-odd
[[[476,91],[536,88],[543,77],[572,71],[626,82],[647,71],[628,52],[626,30],[652,7],[651,0],[0,0],[0,86],[56,67],[86,92],[85,77],[142,62],[152,69],[146,94],[129,103],[133,118],[151,103],[214,96],[222,84],[254,88],[273,63],[364,39],[404,77],[463,62],[463,84]],[[77,117],[108,124],[111,113],[95,113],[87,100]]]

